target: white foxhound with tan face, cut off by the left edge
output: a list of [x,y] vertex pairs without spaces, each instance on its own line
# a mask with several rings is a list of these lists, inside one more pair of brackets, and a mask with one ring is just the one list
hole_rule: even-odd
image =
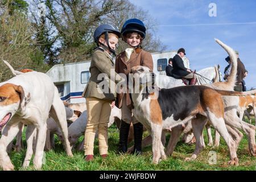
[[20,122],[36,128],[33,163],[36,169],[42,167],[48,115],[60,126],[65,150],[69,156],[73,156],[68,142],[64,104],[51,78],[45,73],[35,71],[22,73],[14,71],[10,65],[9,68],[17,76],[0,83],[0,130],[5,126],[0,139],[0,167],[3,170],[14,169],[6,147],[18,133]]

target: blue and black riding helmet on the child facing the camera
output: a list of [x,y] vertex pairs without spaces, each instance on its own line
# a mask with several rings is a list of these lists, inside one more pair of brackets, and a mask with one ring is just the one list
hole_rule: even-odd
[[126,20],[125,24],[123,24],[121,34],[124,36],[129,32],[137,32],[144,39],[146,36],[146,27],[144,26],[144,23],[141,20],[137,18],[132,18]]

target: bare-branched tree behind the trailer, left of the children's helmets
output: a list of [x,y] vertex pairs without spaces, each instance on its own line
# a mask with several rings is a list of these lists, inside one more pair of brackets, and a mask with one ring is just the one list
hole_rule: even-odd
[[122,10],[123,0],[46,0],[47,16],[59,33],[63,63],[90,57],[95,44],[92,35],[102,17]]

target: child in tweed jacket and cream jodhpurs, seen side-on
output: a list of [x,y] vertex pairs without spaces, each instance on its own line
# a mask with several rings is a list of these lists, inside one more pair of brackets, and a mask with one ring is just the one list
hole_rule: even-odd
[[[115,73],[115,78],[110,77],[110,70],[114,71],[112,53],[118,43],[120,32],[109,24],[102,24],[94,31],[94,42],[97,48],[92,55],[90,63],[90,78],[84,89],[83,97],[86,98],[88,122],[85,130],[84,150],[85,160],[93,160],[93,144],[98,130],[98,148],[102,158],[108,155],[108,122],[112,102],[115,100],[115,90],[101,88],[102,83],[115,84],[122,78]],[[98,80],[98,76],[105,73],[104,80]],[[113,79],[113,80],[111,80]],[[113,82],[114,81],[114,82]],[[105,84],[104,84],[105,86]],[[101,89],[101,90],[100,90]]]

